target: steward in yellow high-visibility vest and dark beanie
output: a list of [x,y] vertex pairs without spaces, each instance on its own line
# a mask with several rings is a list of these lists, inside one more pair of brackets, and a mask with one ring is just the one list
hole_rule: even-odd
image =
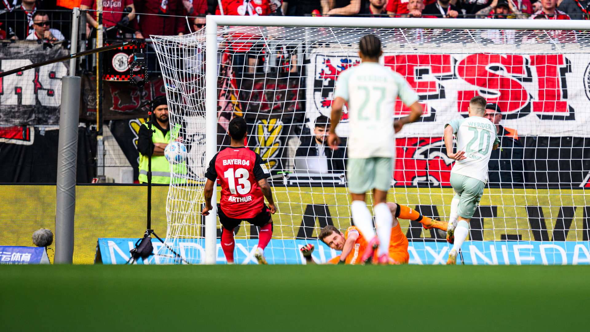
[[[143,123],[139,128],[137,151],[139,151],[139,182],[148,183],[149,155],[152,155],[152,183],[169,184],[171,171],[176,174],[175,183],[186,183],[186,160],[181,164],[171,165],[164,157],[164,149],[170,142],[179,137],[180,125],[170,128],[168,118],[168,104],[165,98],[156,100],[152,105],[152,135],[150,140],[149,123]],[[180,178],[178,177],[180,176]]]

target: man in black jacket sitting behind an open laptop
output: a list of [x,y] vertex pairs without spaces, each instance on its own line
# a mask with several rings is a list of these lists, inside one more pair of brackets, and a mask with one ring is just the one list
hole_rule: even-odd
[[[326,158],[327,171],[330,173],[343,173],[346,170],[346,141],[340,142],[340,149],[332,150],[327,146],[326,138],[330,134],[330,120],[327,116],[320,115],[316,118],[313,128],[313,136],[301,138],[301,145],[295,152],[295,157],[319,157]],[[317,170],[321,171],[321,170]]]

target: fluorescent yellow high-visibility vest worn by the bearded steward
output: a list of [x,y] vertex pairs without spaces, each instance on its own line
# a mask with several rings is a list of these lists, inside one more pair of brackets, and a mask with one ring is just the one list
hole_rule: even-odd
[[[143,126],[148,127],[148,123],[143,123]],[[171,136],[178,137],[180,126],[176,125],[175,128],[166,132],[166,135],[156,126],[152,125],[153,143],[165,143],[171,142]],[[173,134],[173,135],[172,135]],[[138,180],[142,183],[148,183],[148,162],[149,156],[139,154],[139,177]],[[180,164],[173,164],[173,171],[177,175],[186,175],[186,161]],[[158,155],[152,156],[152,183],[170,184],[171,176],[171,164],[168,162],[165,156]],[[186,183],[186,178],[178,178],[175,183]]]

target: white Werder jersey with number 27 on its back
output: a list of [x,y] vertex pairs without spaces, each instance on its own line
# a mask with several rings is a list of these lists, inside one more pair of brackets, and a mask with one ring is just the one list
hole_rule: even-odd
[[343,71],[334,98],[348,102],[349,158],[395,157],[394,106],[397,97],[412,105],[418,95],[404,77],[374,62]]

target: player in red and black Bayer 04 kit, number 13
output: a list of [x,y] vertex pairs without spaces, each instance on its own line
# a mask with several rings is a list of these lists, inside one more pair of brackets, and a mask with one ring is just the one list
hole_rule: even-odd
[[[264,248],[273,236],[273,220],[270,215],[276,212],[276,208],[270,185],[266,181],[270,177],[270,171],[263,164],[260,155],[244,147],[246,128],[244,118],[237,117],[230,121],[230,147],[213,157],[205,173],[205,207],[201,214],[207,216],[213,209],[213,186],[218,175],[221,175],[221,204],[217,205],[217,214],[222,226],[221,248],[225,259],[228,264],[234,263],[234,228],[245,220],[260,227],[258,248],[254,256],[259,264],[266,264]],[[263,194],[268,200],[268,207],[264,204]]]

